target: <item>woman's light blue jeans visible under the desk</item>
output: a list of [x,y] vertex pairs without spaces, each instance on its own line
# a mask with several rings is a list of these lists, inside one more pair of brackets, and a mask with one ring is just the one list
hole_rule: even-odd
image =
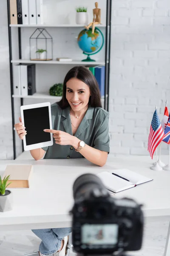
[[40,253],[50,255],[60,249],[62,239],[71,233],[71,227],[38,229],[32,232],[42,240]]

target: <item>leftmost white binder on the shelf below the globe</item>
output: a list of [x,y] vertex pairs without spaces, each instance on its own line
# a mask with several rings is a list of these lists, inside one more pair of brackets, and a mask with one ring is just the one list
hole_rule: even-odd
[[13,66],[13,91],[14,95],[21,95],[20,65]]

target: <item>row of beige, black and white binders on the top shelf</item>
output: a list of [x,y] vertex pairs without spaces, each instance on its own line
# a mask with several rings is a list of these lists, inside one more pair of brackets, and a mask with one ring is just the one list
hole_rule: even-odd
[[43,0],[9,0],[11,24],[43,24]]

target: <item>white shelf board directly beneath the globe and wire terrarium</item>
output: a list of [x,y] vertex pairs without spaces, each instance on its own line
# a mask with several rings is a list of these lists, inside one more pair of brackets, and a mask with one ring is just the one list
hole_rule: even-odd
[[11,63],[31,63],[31,64],[67,64],[67,65],[105,65],[105,61],[30,61],[30,60],[12,60]]

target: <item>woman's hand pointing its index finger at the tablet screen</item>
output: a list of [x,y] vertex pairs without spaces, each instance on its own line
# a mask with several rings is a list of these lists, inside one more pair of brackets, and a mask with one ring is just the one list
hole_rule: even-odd
[[65,131],[57,131],[52,129],[45,129],[45,132],[53,133],[53,137],[56,144],[59,145],[72,145],[73,137],[71,134],[68,134]]

